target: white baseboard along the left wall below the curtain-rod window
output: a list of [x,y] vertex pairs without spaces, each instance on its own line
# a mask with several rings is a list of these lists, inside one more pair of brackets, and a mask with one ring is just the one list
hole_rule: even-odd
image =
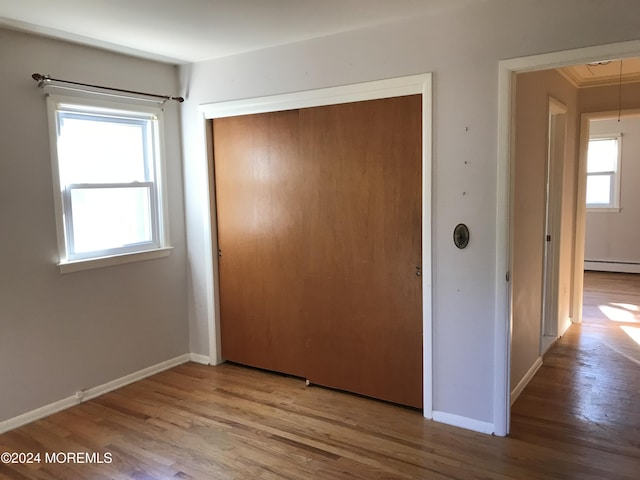
[[118,378],[111,382],[107,382],[102,385],[98,385],[97,387],[83,390],[80,397],[72,395],[70,397],[63,398],[62,400],[58,400],[57,402],[53,402],[43,407],[36,408],[35,410],[32,410],[30,412],[23,413],[22,415],[18,415],[17,417],[3,420],[0,422],[0,434],[21,427],[28,423],[35,422],[36,420],[40,420],[41,418],[48,417],[49,415],[53,415],[54,413],[66,410],[67,408],[74,407],[82,402],[99,397],[100,395],[104,395],[105,393],[129,385],[130,383],[137,382],[138,380],[142,380],[143,378],[155,375],[156,373],[160,373],[164,370],[168,370],[169,368],[173,368],[177,365],[181,365],[189,361],[192,361],[192,354],[186,353],[184,355],[180,355],[179,357],[175,357],[170,360],[158,363],[157,365],[143,368],[142,370],[138,370],[137,372],[125,375],[124,377]]

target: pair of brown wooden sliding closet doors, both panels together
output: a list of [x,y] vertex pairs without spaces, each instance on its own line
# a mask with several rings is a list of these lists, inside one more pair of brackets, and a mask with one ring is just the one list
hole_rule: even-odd
[[214,120],[225,359],[422,406],[421,104]]

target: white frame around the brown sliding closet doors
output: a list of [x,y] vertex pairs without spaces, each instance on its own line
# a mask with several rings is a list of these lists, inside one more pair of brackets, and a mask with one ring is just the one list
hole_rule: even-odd
[[205,238],[207,302],[209,320],[209,356],[212,364],[222,362],[220,356],[220,297],[218,290],[217,229],[215,196],[213,192],[213,134],[211,124],[216,118],[277,112],[283,110],[337,105],[366,100],[422,95],[422,361],[423,411],[433,418],[433,340],[432,340],[432,248],[431,248],[431,195],[432,195],[432,76],[431,73],[397,77],[386,80],[308,90],[281,95],[215,102],[200,105],[202,128],[205,129],[207,172],[209,179],[208,204],[203,219]]

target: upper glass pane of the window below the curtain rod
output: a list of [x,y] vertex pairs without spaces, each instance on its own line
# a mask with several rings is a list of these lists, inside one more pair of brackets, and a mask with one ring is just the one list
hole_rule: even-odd
[[63,185],[149,180],[146,120],[60,113],[58,156]]

